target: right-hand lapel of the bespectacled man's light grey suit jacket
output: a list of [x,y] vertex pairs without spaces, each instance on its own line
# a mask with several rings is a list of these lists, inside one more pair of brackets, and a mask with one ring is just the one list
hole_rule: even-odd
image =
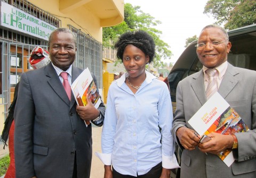
[[236,72],[235,67],[228,63],[228,68],[223,76],[219,87],[219,94],[226,98],[229,92],[236,86],[238,80],[234,77],[238,72]]

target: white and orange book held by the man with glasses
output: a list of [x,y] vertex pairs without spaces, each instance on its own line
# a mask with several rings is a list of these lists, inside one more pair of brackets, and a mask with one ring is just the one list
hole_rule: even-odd
[[[218,92],[206,101],[188,123],[200,135],[211,132],[234,134],[249,130],[235,109]],[[228,167],[235,161],[232,149],[223,150],[218,156]]]

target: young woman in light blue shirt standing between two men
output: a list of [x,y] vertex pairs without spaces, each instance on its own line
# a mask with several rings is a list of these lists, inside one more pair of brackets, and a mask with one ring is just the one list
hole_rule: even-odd
[[126,32],[115,47],[126,73],[108,91],[102,154],[96,153],[104,177],[170,178],[170,169],[179,167],[171,98],[166,84],[145,70],[153,62],[154,40],[145,31]]

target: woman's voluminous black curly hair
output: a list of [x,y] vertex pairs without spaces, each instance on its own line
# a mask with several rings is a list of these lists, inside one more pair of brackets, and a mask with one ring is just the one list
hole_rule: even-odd
[[121,35],[115,44],[117,48],[117,57],[123,61],[124,49],[127,45],[133,45],[142,50],[145,55],[149,56],[149,63],[155,56],[154,39],[145,31],[139,30],[134,32],[125,32]]

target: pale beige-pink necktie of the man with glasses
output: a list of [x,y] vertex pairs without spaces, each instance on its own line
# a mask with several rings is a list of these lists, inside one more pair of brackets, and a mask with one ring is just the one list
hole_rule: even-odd
[[218,86],[217,86],[217,81],[216,79],[214,78],[214,75],[215,73],[217,73],[217,70],[216,69],[207,69],[205,71],[205,73],[208,75],[209,77],[209,80],[208,80],[208,85],[207,85],[207,88],[205,90],[205,94],[206,94],[206,97],[207,97],[207,100],[209,98],[211,98],[211,96],[216,92],[218,91]]

